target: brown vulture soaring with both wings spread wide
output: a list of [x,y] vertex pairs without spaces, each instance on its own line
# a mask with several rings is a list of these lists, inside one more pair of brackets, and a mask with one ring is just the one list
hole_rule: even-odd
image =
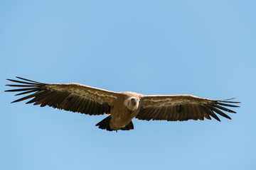
[[[6,84],[6,86],[18,87],[6,91],[18,92],[15,96],[29,94],[11,103],[23,101],[41,107],[50,106],[85,113],[87,115],[104,115],[107,118],[96,124],[105,130],[131,130],[134,129],[133,118],[139,120],[204,120],[215,118],[220,121],[218,115],[231,119],[223,111],[235,113],[226,107],[239,107],[236,101],[211,100],[191,95],[143,95],[131,91],[114,92],[98,89],[82,84],[44,84],[16,77],[7,79],[18,84]],[[32,94],[31,94],[32,93]]]

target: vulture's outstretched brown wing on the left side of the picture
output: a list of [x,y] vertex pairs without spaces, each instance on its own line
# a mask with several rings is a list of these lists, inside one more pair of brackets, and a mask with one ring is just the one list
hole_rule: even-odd
[[7,79],[18,84],[6,84],[6,86],[18,87],[18,89],[6,91],[21,91],[16,96],[32,94],[19,98],[12,103],[32,98],[27,103],[33,103],[33,105],[40,105],[41,107],[47,105],[53,108],[64,109],[65,111],[89,115],[102,115],[110,113],[110,108],[119,95],[112,91],[97,89],[82,84],[43,84],[21,77],[16,78],[23,81]]

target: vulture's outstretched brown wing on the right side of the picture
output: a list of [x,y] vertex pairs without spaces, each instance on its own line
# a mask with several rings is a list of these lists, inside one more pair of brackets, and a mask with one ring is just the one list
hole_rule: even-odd
[[139,120],[168,120],[168,121],[183,121],[183,120],[203,120],[211,117],[220,121],[218,116],[222,115],[225,118],[231,119],[223,111],[235,113],[228,107],[239,107],[232,103],[240,103],[228,100],[218,101],[208,98],[199,98],[191,95],[173,95],[173,96],[144,96],[142,98],[142,108],[136,118]]

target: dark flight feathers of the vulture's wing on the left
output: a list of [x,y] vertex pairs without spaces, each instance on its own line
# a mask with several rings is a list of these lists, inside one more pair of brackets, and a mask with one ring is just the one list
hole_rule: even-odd
[[[11,103],[31,99],[30,101],[26,102],[26,104],[34,103],[34,105],[40,105],[41,107],[51,106],[53,108],[64,109],[65,111],[85,113],[89,115],[102,115],[105,113],[110,113],[111,106],[107,102],[98,103],[97,101],[93,101],[92,98],[86,96],[86,94],[74,93],[68,88],[69,86],[75,85],[60,84],[59,86],[63,86],[63,90],[60,91],[54,88],[50,89],[48,87],[50,84],[43,84],[37,81],[23,79],[21,77],[16,78],[21,79],[22,81],[7,79],[18,84],[6,84],[6,86],[18,87],[18,89],[11,89],[6,91],[21,92],[16,94],[16,96],[23,94],[29,95],[18,98],[16,101]],[[65,86],[67,87],[66,89]]]

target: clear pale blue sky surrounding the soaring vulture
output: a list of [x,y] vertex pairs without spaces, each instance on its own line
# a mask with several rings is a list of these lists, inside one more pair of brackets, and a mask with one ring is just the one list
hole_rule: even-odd
[[[0,169],[253,169],[256,1],[0,2]],[[236,97],[232,120],[105,118],[13,103],[6,78]]]

